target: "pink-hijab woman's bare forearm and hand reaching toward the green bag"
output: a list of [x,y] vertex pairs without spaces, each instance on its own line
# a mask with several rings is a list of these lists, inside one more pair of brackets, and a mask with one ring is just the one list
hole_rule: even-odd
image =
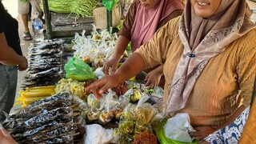
[[110,60],[108,60],[103,66],[103,72],[105,74],[109,74],[109,70],[111,69],[114,72],[117,69],[118,62],[122,57],[122,54],[126,50],[126,47],[130,40],[122,35],[118,37],[118,42],[114,46],[114,53],[112,54]]

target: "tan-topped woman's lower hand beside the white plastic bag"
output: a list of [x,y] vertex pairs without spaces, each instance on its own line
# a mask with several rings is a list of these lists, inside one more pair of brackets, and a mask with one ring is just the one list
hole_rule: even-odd
[[197,126],[194,127],[195,132],[190,133],[190,137],[195,137],[197,141],[201,141],[206,138],[209,134],[213,134],[215,129],[210,126]]

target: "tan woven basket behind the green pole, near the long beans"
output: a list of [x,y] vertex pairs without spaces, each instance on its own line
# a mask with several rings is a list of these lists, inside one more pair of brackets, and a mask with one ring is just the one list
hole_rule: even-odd
[[[94,24],[96,29],[104,29],[107,26],[106,7],[98,7],[94,9]],[[112,9],[112,27],[117,27],[121,22],[121,7],[114,6]]]

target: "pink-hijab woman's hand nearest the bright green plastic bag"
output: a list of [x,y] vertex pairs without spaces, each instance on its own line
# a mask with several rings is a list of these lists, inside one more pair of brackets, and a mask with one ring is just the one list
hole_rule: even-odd
[[102,70],[104,74],[110,75],[110,74],[114,74],[117,68],[118,68],[118,60],[111,58],[109,61],[105,62],[105,64],[102,67]]

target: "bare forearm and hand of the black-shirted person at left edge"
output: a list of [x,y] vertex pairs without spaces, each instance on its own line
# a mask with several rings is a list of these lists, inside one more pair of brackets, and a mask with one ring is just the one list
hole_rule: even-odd
[[6,36],[4,33],[0,34],[0,63],[6,66],[18,65],[19,70],[26,70],[27,61],[23,56],[18,55],[6,42]]

